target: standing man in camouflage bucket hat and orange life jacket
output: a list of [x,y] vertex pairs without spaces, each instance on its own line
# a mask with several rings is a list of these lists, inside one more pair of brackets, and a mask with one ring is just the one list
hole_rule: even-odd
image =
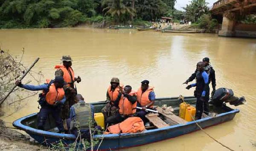
[[75,77],[75,73],[72,69],[72,59],[69,55],[63,55],[61,61],[63,61],[63,65],[56,65],[55,76],[62,76],[64,81],[67,83],[64,85],[64,91],[67,101],[62,106],[62,119],[64,121],[64,128],[67,130],[67,121],[66,119],[69,117],[69,110],[75,102],[75,96],[77,94],[75,88],[75,81],[77,83],[81,82],[81,78],[78,76]]

